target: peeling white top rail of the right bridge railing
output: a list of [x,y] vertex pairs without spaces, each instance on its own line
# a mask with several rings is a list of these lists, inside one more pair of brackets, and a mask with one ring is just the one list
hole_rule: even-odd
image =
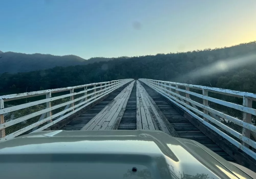
[[[153,80],[153,79],[144,79],[144,80]],[[169,84],[179,85],[179,86],[187,86],[187,87],[201,89],[201,90],[207,89],[212,92],[226,94],[230,96],[236,96],[240,98],[243,98],[244,96],[246,96],[246,97],[253,98],[253,100],[256,100],[256,94],[249,93],[249,92],[235,91],[231,89],[222,89],[222,88],[215,88],[215,87],[201,86],[201,85],[192,85],[192,84],[186,84],[186,83],[176,83],[176,82],[170,82],[170,81],[161,81],[161,80],[154,80],[154,81],[164,82],[164,83],[169,83]]]

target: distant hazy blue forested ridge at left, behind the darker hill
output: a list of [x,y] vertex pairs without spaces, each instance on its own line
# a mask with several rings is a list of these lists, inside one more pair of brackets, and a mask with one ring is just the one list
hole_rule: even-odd
[[[2,58],[1,58],[2,57]],[[0,51],[0,73],[18,73],[34,70],[44,70],[55,66],[86,65],[99,61],[108,61],[112,58],[95,57],[85,60],[76,55],[51,55],[51,54],[25,54]]]

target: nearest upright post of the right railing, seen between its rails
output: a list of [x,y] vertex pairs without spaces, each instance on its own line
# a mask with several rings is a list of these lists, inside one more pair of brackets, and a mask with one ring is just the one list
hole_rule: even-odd
[[[246,97],[246,96],[243,96],[243,106],[251,108],[252,107],[252,100],[248,99],[248,97]],[[243,121],[251,124],[251,122],[252,122],[252,115],[249,114],[249,113],[243,112]],[[250,132],[249,129],[246,129],[246,128],[243,127],[242,135],[244,137],[247,137],[247,138],[250,139],[251,132]],[[249,148],[249,145],[247,143],[242,142],[242,144]]]

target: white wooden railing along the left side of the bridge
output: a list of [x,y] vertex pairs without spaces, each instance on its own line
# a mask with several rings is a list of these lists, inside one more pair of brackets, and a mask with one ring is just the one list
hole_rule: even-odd
[[0,96],[0,141],[42,131],[133,79]]

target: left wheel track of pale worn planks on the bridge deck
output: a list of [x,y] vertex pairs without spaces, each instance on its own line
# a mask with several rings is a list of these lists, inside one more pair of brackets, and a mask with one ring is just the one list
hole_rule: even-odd
[[123,117],[135,81],[121,91],[108,105],[93,117],[81,130],[116,130]]

